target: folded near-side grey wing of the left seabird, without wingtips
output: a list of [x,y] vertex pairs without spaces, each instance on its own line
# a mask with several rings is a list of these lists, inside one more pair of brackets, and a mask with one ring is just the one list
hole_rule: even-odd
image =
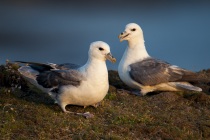
[[79,86],[85,76],[73,69],[45,71],[37,75],[37,82],[44,88],[58,87],[62,85]]

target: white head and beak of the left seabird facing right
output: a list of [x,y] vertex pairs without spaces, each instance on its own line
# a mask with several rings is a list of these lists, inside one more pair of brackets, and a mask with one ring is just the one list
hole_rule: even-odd
[[108,59],[113,63],[116,62],[116,59],[110,52],[109,45],[103,41],[95,41],[90,44],[89,57],[102,61],[106,61],[106,59]]

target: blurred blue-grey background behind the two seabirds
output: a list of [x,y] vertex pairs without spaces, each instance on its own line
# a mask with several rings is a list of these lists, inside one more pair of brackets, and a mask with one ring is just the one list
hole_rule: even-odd
[[210,68],[210,1],[19,0],[0,3],[0,64],[11,61],[87,61],[89,45],[111,46],[117,70],[127,46],[118,34],[135,22],[149,54],[180,67]]

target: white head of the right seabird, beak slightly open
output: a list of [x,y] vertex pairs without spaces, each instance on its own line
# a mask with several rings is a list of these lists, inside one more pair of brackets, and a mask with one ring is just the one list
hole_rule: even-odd
[[129,23],[125,26],[125,31],[123,31],[119,36],[120,42],[123,40],[135,41],[143,38],[143,31],[141,27],[136,23]]

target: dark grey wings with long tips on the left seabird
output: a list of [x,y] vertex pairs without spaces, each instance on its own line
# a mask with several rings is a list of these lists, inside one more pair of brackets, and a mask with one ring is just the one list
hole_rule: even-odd
[[44,88],[58,87],[61,85],[78,86],[85,76],[78,70],[79,65],[72,63],[53,64],[15,61],[18,63],[28,64],[33,70],[37,71],[36,80]]

